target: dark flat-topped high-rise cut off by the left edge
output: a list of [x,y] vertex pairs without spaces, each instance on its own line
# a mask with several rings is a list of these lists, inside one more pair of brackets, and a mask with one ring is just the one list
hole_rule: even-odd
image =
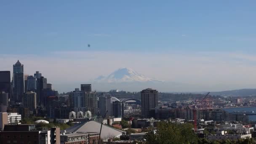
[[11,94],[11,72],[0,71],[0,92]]

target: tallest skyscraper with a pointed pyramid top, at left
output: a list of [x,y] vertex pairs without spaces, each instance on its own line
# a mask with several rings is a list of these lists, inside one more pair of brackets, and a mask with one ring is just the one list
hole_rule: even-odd
[[13,64],[13,99],[12,101],[21,102],[24,95],[24,74],[23,74],[23,64],[16,62]]

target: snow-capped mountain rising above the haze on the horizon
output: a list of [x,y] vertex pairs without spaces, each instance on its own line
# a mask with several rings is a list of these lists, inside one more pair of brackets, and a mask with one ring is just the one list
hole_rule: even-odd
[[107,77],[99,76],[95,79],[97,82],[106,83],[123,83],[123,82],[150,82],[150,81],[160,81],[157,79],[145,77],[138,72],[133,71],[129,68],[120,68],[115,72],[112,72]]

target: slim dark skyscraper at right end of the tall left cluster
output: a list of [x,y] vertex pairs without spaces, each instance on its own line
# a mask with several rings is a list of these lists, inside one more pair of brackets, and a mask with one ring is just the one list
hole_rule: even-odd
[[47,79],[45,77],[40,77],[37,78],[37,104],[41,105],[42,104],[42,96],[43,95],[43,90],[47,89]]

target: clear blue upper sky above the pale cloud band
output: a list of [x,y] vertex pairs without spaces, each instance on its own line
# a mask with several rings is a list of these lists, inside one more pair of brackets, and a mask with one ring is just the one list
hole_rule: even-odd
[[1,1],[0,48],[249,52],[255,51],[255,6],[254,0]]

